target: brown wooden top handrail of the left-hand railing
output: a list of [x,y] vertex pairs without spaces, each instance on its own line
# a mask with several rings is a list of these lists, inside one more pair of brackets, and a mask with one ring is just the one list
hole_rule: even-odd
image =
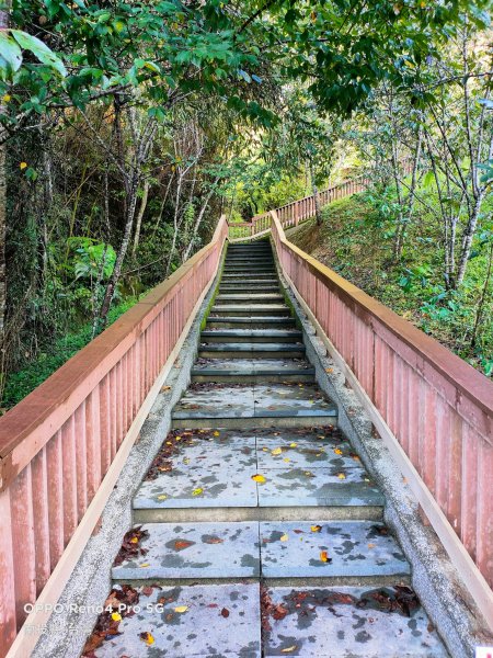
[[[225,222],[222,215],[209,243],[0,418],[0,490],[43,447],[43,435],[48,438],[56,432],[78,408],[84,397],[82,392],[78,395],[81,383],[88,382],[89,387],[94,388],[128,349],[128,341],[135,342],[144,333],[173,288],[185,281],[214,248]],[[32,450],[22,455],[22,462],[12,464],[9,455],[27,436],[34,436]]]

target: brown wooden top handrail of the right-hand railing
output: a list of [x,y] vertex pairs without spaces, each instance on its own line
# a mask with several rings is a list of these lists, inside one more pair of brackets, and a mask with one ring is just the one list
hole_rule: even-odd
[[[435,338],[424,333],[424,331],[417,329],[417,327],[381,304],[381,302],[378,302],[362,291],[362,288],[334,272],[334,270],[331,270],[309,253],[299,249],[286,238],[276,211],[271,211],[271,215],[276,225],[278,225],[277,229],[280,240],[291,251],[307,261],[310,269],[317,275],[329,282],[334,291],[337,291],[337,293],[345,297],[346,302],[355,304],[360,310],[378,319],[389,331],[403,340],[423,360],[433,367],[436,367],[444,377],[460,388],[460,392],[466,397],[481,407],[489,419],[489,424],[482,429],[478,429],[493,444],[493,382],[460,359],[460,356],[454,354],[454,352],[439,343]],[[422,368],[422,375],[426,377],[425,368]],[[468,419],[471,420],[469,417]]]

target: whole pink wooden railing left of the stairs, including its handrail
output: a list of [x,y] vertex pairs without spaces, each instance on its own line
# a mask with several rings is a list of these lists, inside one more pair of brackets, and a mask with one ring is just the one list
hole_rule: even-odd
[[36,601],[87,519],[154,381],[174,359],[176,341],[214,280],[227,231],[221,217],[209,245],[1,418],[0,656],[26,617],[24,605]]

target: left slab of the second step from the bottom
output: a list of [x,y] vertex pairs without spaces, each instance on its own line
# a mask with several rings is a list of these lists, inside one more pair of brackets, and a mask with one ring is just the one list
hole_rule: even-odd
[[145,555],[113,567],[114,580],[260,576],[259,524],[147,523]]

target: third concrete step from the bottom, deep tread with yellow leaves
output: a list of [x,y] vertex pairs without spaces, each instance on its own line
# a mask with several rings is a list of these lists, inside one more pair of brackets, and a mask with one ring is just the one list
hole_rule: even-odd
[[381,518],[380,491],[331,427],[180,435],[167,469],[140,485],[136,522]]

